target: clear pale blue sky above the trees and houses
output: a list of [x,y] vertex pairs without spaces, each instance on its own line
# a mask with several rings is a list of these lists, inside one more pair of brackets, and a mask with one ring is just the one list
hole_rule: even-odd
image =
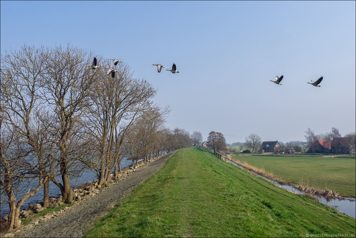
[[[355,131],[355,1],[1,1],[1,54],[67,45],[126,62],[167,126],[226,142]],[[179,74],[162,70],[177,65]],[[276,75],[284,75],[276,85]],[[307,84],[324,76],[321,87]]]

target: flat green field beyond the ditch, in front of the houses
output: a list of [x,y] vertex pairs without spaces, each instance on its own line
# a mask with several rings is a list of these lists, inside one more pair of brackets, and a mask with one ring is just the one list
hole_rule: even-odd
[[344,197],[356,196],[356,160],[340,157],[234,156],[232,159],[263,168],[285,183],[335,190]]

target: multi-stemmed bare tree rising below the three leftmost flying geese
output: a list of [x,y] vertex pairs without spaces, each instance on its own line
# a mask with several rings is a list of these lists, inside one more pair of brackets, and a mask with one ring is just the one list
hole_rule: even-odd
[[93,142],[98,145],[99,167],[95,171],[99,184],[110,181],[112,169],[116,174],[116,164],[123,158],[121,150],[126,133],[143,113],[150,110],[150,100],[156,94],[147,81],[133,79],[127,64],[118,64],[115,69],[118,72],[114,78],[105,74],[99,76],[92,88],[93,104],[88,110]]

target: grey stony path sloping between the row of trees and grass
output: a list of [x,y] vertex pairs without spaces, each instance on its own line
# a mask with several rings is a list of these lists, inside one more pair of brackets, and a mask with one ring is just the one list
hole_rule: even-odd
[[61,213],[57,217],[21,232],[17,237],[83,237],[95,224],[96,218],[104,216],[111,210],[111,208],[105,208],[110,207],[119,198],[129,195],[138,184],[146,181],[161,169],[173,154],[174,152],[168,153],[139,167],[135,172],[103,189],[95,196],[87,198],[77,206],[70,207],[67,212]]

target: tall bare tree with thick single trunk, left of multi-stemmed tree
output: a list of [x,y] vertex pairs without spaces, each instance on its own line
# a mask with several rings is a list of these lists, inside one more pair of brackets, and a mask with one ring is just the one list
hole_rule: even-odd
[[63,202],[66,203],[74,199],[69,174],[73,172],[78,157],[73,156],[73,150],[80,146],[79,142],[85,143],[80,137],[86,128],[82,117],[84,109],[92,103],[89,94],[98,73],[98,70],[87,66],[93,57],[91,53],[69,44],[67,47],[55,46],[48,50],[45,65],[42,98],[46,100],[56,118],[51,132],[53,142],[59,150],[58,164],[62,184],[54,178],[52,181],[61,189]]

